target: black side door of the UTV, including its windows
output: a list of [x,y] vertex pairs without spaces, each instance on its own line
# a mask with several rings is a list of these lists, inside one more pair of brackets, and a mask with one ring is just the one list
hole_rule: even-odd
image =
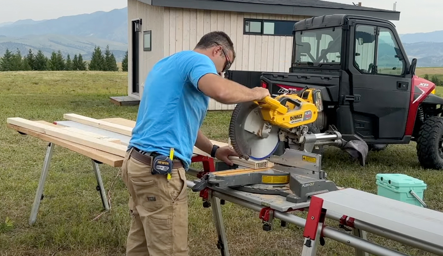
[[411,98],[409,61],[394,28],[356,22],[349,33],[348,69],[354,132],[368,142],[402,140]]

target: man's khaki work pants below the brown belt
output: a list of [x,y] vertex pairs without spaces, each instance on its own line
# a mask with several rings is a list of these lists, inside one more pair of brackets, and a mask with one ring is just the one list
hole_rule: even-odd
[[167,175],[151,174],[151,166],[130,158],[122,166],[129,191],[131,226],[127,256],[188,256],[188,191],[185,168]]

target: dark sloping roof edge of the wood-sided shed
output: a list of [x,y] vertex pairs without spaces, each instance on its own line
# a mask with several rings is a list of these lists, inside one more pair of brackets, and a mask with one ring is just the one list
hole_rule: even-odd
[[365,15],[400,20],[400,12],[322,0],[139,0],[167,7],[253,12],[283,15],[322,16],[330,14]]

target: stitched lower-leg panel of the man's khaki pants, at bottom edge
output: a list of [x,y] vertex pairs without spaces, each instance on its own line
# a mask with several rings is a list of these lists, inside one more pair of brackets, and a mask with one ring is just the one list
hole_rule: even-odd
[[145,229],[146,241],[151,256],[170,256],[172,254],[172,220],[148,217]]

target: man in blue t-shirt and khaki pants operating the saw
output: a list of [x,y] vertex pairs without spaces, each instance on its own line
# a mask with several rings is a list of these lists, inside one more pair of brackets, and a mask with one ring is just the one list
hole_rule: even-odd
[[[259,100],[267,89],[249,89],[221,77],[235,60],[224,32],[205,34],[193,51],[154,65],[145,81],[122,177],[129,191],[131,227],[127,255],[188,256],[188,199],[185,172],[193,147],[229,165],[236,153],[213,145],[200,127],[209,99],[224,104]],[[174,149],[172,175],[151,173],[157,156]]]

